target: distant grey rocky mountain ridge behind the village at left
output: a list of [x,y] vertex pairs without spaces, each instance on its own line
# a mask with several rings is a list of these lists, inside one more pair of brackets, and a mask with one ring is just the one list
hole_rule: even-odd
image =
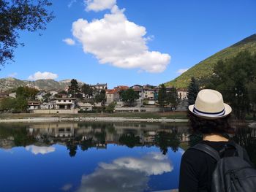
[[[37,88],[39,90],[56,90],[61,91],[69,86],[70,80],[18,80],[13,77],[7,77],[0,79],[0,90],[1,91],[8,91],[11,89],[18,88],[20,86],[28,86],[30,88]],[[83,85],[84,82],[78,81],[78,85]]]

